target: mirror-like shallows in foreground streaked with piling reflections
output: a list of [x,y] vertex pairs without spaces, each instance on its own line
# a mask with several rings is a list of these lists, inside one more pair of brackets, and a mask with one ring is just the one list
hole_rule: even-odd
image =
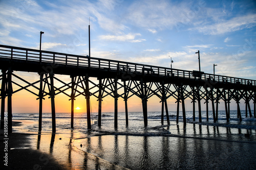
[[[172,125],[169,131],[180,137],[120,133],[79,138],[84,135],[73,131],[38,133],[34,147],[68,169],[121,168],[114,164],[130,169],[256,168],[255,130],[191,124],[186,129]],[[253,134],[251,139],[244,137],[247,131]]]

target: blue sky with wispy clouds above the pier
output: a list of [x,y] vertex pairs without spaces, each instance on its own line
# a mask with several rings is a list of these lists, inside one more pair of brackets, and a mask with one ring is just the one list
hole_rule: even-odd
[[86,56],[89,24],[91,57],[256,80],[255,1],[0,0],[0,44]]

